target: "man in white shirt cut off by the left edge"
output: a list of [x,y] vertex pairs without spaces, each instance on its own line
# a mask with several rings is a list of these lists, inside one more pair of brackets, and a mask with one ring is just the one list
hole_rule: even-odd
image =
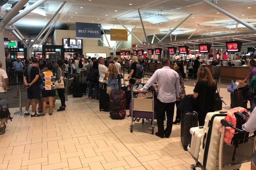
[[[0,99],[6,98],[5,92],[7,89],[7,84],[9,82],[7,73],[5,70],[1,69],[3,66],[2,61],[0,60]],[[0,135],[4,134],[6,128],[6,118],[0,119]]]

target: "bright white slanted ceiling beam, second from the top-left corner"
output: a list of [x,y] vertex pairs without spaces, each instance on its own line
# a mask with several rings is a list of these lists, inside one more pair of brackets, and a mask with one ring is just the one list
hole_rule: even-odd
[[38,0],[36,1],[34,4],[26,7],[25,9],[23,9],[18,15],[16,15],[15,17],[12,18],[12,20],[10,20],[10,22],[8,22],[7,26],[10,26],[12,24],[14,24],[15,22],[17,22],[18,20],[20,20],[21,18],[25,17],[27,14],[29,14],[30,12],[32,12],[34,9],[36,9],[37,7],[39,7],[41,4],[45,3],[47,0]]

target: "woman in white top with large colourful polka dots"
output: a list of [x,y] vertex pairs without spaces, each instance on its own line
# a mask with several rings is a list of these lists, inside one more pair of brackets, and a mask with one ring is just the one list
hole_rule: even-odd
[[52,115],[53,111],[53,97],[56,95],[54,80],[55,80],[55,71],[51,63],[46,64],[46,72],[42,73],[42,97],[43,97],[43,113],[42,116],[45,116],[46,111],[46,102],[49,101],[49,115]]

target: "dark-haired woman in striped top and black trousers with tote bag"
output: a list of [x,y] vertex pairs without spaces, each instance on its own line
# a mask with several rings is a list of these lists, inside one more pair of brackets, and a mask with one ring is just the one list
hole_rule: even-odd
[[[57,67],[56,79],[58,80],[62,76],[63,77],[63,82],[64,82],[64,87],[65,87],[66,86],[65,81],[64,81],[65,65],[64,65],[63,61],[58,60],[57,63],[56,63],[56,67]],[[57,91],[58,91],[59,98],[61,99],[61,106],[57,111],[64,111],[65,107],[66,107],[66,104],[65,104],[65,100],[66,100],[66,98],[65,98],[65,89],[64,88],[59,88],[59,89],[57,89]]]

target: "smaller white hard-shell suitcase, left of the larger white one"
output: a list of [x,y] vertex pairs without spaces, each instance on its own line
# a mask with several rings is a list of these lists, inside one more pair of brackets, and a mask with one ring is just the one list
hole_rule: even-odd
[[187,147],[189,153],[196,159],[198,159],[198,154],[201,145],[201,139],[203,136],[203,126],[192,127],[189,130],[191,136],[191,142]]

